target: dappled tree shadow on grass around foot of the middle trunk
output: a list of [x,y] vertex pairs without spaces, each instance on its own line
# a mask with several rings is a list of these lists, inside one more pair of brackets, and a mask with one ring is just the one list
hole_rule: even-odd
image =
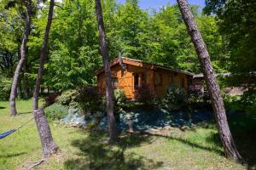
[[67,160],[67,169],[155,169],[163,162],[154,161],[144,156],[125,150],[143,143],[150,143],[148,135],[120,135],[119,143],[108,145],[106,133],[90,133],[86,139],[73,141],[73,146],[79,148],[77,159]]

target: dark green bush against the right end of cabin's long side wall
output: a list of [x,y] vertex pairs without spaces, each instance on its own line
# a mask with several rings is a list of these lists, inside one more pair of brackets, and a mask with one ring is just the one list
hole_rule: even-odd
[[166,95],[161,99],[162,108],[168,111],[180,111],[187,108],[186,93],[183,88],[166,88]]

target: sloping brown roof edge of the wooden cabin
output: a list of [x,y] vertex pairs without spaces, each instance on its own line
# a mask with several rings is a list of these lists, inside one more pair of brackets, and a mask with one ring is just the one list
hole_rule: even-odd
[[[175,72],[186,74],[191,77],[194,76],[194,74],[189,71],[181,71],[176,68],[166,67],[166,66],[162,66],[162,65],[154,65],[154,64],[151,64],[151,63],[145,62],[143,60],[139,60],[139,59],[130,59],[130,58],[122,57],[122,60],[123,60],[123,63],[126,65],[135,65],[135,66],[139,66],[139,67],[145,67],[145,68],[148,68],[151,70],[160,69],[160,70],[166,70],[166,71],[175,71]],[[110,64],[110,67],[113,67],[114,65],[119,65],[119,58],[113,59],[113,61],[111,61],[109,64]],[[104,72],[103,67],[100,70],[96,71],[96,75],[99,75],[102,72]]]

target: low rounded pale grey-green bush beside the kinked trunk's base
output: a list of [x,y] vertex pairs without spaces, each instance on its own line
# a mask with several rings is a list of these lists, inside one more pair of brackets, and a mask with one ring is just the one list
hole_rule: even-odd
[[44,112],[49,121],[54,121],[63,119],[65,116],[67,116],[68,109],[64,105],[53,104],[46,107]]

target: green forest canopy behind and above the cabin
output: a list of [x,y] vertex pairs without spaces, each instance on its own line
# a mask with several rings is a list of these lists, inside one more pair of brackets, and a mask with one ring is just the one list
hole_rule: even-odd
[[[217,73],[252,72],[255,70],[253,36],[250,38],[244,36],[243,30],[246,27],[239,25],[240,23],[245,26],[237,18],[239,13],[235,13],[230,6],[227,6],[227,9],[223,8],[221,2],[208,0],[204,13],[198,6],[190,6],[207,44],[213,68]],[[32,31],[26,49],[27,60],[19,83],[21,97],[32,94],[32,87],[37,77],[38,56],[40,44],[43,42],[48,6],[48,3],[32,4]],[[50,87],[55,91],[63,91],[96,82],[95,71],[102,67],[102,57],[94,7],[94,2],[90,0],[64,0],[61,3],[55,3],[43,88]],[[142,59],[158,65],[201,73],[195,48],[177,4],[159,10],[143,10],[138,6],[138,1],[127,0],[125,4],[120,4],[115,0],[105,0],[102,1],[102,8],[110,59],[122,54],[132,59]],[[242,11],[247,7],[239,6],[239,8]],[[5,92],[1,92],[5,93],[1,95],[5,99],[9,97],[8,85],[11,83],[17,60],[20,59],[25,11],[25,7],[20,3],[10,4],[6,0],[0,3],[0,73],[2,77],[0,87],[6,87]],[[244,13],[244,18],[253,14]],[[236,18],[237,26],[227,22],[226,20],[230,20],[227,17]],[[254,21],[246,22],[252,26],[247,28],[248,33],[252,35],[255,34]],[[241,36],[244,38],[236,38]],[[246,54],[246,57],[242,54]],[[246,62],[249,58],[253,62]],[[247,63],[246,70],[239,65],[240,59]]]

